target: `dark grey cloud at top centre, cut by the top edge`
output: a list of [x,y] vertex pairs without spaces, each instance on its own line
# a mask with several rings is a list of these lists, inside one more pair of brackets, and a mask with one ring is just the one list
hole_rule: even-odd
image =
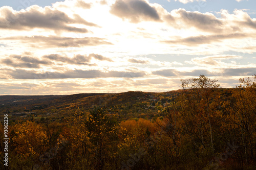
[[110,12],[134,23],[161,20],[157,10],[144,0],[117,0]]

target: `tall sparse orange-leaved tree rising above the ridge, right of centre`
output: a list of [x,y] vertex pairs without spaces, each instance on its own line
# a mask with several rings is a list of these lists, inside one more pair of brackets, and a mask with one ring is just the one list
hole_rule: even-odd
[[[207,148],[209,136],[210,148],[214,153],[213,121],[215,117],[214,100],[216,89],[220,87],[217,80],[200,75],[199,78],[181,80],[183,88],[182,110],[185,131],[190,135],[196,147]],[[208,125],[205,124],[208,123]],[[208,130],[207,130],[208,129]],[[208,131],[209,135],[206,135]],[[200,144],[196,142],[200,141]]]

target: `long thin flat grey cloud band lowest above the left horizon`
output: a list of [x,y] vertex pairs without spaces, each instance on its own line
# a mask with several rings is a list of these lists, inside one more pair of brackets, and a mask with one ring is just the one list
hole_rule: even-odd
[[15,69],[7,71],[12,79],[93,79],[93,78],[137,78],[145,76],[145,72],[124,72],[100,70],[67,70],[63,72],[36,72],[35,70]]

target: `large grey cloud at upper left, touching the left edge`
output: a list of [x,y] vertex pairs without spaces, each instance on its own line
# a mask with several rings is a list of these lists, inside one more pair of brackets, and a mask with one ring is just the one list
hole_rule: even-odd
[[70,18],[65,12],[58,11],[51,7],[41,8],[33,5],[25,10],[14,11],[11,7],[0,8],[0,28],[13,30],[27,29],[50,29],[54,31],[69,31],[78,33],[87,33],[85,28],[69,26],[78,23],[86,26],[98,27],[96,24],[88,22],[79,15]]

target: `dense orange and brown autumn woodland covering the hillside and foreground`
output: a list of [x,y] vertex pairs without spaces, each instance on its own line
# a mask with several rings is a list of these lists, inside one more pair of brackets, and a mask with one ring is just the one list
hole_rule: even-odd
[[[167,93],[79,94],[25,102],[23,110],[3,106],[9,166],[1,168],[256,169],[256,75],[239,82],[225,89],[200,75]],[[33,114],[11,116],[24,109]]]

